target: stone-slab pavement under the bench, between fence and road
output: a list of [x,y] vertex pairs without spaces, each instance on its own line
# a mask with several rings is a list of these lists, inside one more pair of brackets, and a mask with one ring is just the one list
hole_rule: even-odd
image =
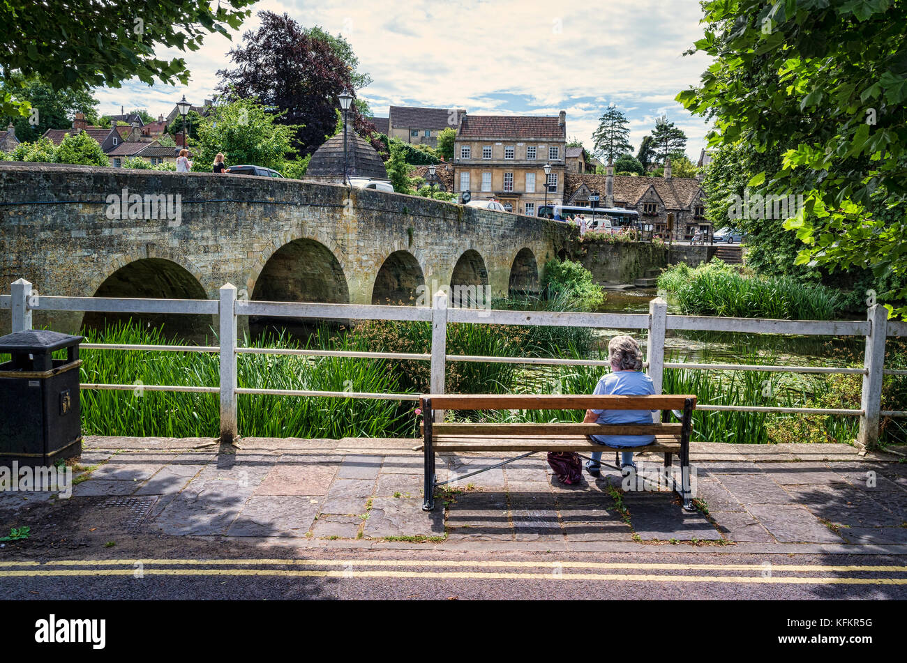
[[[412,440],[242,440],[193,450],[89,438],[73,499],[151,498],[149,533],[451,542],[907,544],[907,465],[846,445],[694,445],[699,509],[662,481],[624,490],[616,472],[561,485],[533,456],[438,488],[422,510]],[[122,442],[122,444],[126,444]],[[94,445],[94,446],[92,446]],[[743,448],[741,448],[743,447]],[[120,450],[118,450],[120,449]],[[115,453],[114,453],[115,452]],[[774,456],[773,456],[774,452]],[[660,466],[657,455],[639,455]],[[506,460],[437,458],[439,481]],[[608,460],[607,458],[605,459]],[[86,470],[86,468],[93,468]],[[0,492],[0,513],[32,492]]]

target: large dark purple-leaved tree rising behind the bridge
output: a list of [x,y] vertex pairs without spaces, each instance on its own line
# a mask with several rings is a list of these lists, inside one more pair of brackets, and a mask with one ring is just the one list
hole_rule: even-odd
[[[287,14],[258,16],[258,30],[243,34],[243,44],[229,52],[236,68],[218,72],[219,91],[234,100],[256,97],[275,109],[281,124],[295,128],[293,147],[311,154],[333,135],[340,93],[355,96],[352,72],[336,51],[340,38],[327,41],[323,31],[307,30]],[[349,112],[351,129],[370,139],[375,125],[355,104]]]

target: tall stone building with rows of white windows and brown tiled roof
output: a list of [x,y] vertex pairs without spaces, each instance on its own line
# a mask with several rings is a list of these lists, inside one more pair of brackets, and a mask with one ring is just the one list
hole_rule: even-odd
[[[546,197],[560,203],[567,158],[567,113],[557,116],[468,115],[453,144],[454,189],[497,198],[505,209],[535,216]],[[551,164],[547,181],[544,166]]]

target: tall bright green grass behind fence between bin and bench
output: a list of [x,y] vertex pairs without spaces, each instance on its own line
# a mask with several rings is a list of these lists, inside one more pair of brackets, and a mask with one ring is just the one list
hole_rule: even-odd
[[[180,345],[160,330],[121,324],[106,331],[86,331],[90,342]],[[268,343],[297,348],[280,338]],[[263,347],[251,343],[250,347]],[[346,336],[320,331],[308,347],[354,350]],[[149,391],[142,385],[219,383],[218,356],[201,352],[82,351],[83,383],[134,384],[132,391],[83,390],[86,435],[138,437],[214,437],[219,431],[217,394]],[[241,354],[240,387],[316,391],[399,393],[384,360],[338,357],[310,359],[287,355]],[[331,397],[239,396],[239,431],[245,437],[380,437],[414,429],[412,403]]]

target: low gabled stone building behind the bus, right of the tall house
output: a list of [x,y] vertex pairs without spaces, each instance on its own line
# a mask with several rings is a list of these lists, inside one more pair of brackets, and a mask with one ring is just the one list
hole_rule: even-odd
[[614,175],[613,172],[613,166],[607,167],[606,175],[568,172],[565,204],[588,207],[590,193],[598,191],[599,207],[635,209],[642,223],[652,226],[662,237],[668,236],[668,222],[673,223],[674,240],[689,240],[697,229],[705,237],[711,235],[701,183],[696,178],[672,177],[669,160],[664,176],[660,178]]

